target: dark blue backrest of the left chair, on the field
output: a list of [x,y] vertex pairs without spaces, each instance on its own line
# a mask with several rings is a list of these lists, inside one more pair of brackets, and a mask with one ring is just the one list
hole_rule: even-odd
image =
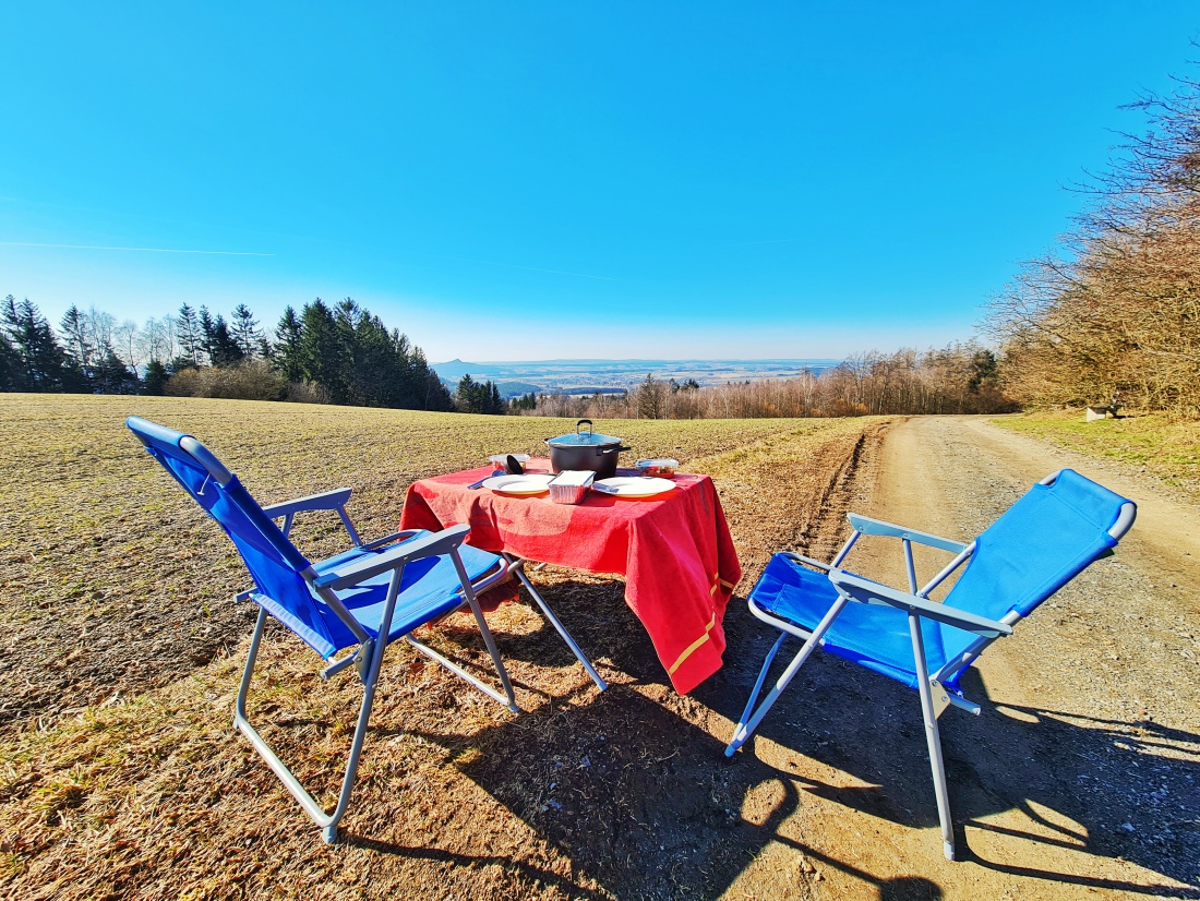
[[[184,491],[217,521],[241,554],[258,591],[292,614],[287,619],[294,620],[288,625],[301,637],[317,638],[317,645],[330,643],[329,629],[301,575],[308,569],[308,560],[263,512],[238,476],[190,434],[140,416],[130,416],[125,425]],[[304,636],[305,629],[313,635]]]

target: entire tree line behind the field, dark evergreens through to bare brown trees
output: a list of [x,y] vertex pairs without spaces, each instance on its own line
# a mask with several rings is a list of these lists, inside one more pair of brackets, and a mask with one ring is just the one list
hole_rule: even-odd
[[10,295],[0,311],[0,390],[157,394],[595,419],[754,419],[1016,409],[995,354],[973,343],[870,352],[824,372],[702,388],[646,379],[620,394],[533,392],[505,402],[469,374],[451,392],[420,348],[347,298],[287,307],[268,335],[245,304],[228,320],[184,304],[142,326],[72,306],[55,331]]

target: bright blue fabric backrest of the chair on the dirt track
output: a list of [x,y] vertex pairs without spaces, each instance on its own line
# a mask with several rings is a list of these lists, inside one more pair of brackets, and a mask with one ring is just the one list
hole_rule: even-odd
[[[1063,469],[1034,485],[978,539],[946,603],[989,619],[1026,617],[1116,546],[1136,507],[1102,485]],[[947,657],[974,637],[947,629]],[[950,635],[962,636],[960,644]]]

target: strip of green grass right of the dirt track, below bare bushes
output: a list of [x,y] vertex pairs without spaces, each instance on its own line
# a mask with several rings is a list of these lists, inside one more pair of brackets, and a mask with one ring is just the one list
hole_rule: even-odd
[[1031,413],[992,420],[1090,457],[1140,467],[1192,501],[1200,501],[1200,421],[1163,413],[1085,421],[1081,410]]

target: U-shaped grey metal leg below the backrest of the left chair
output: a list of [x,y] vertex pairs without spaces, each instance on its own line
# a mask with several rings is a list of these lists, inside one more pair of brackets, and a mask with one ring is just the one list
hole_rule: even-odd
[[263,629],[266,624],[266,611],[259,609],[258,623],[254,625],[254,635],[250,642],[250,654],[246,659],[246,669],[242,672],[241,685],[238,689],[238,702],[234,711],[234,727],[240,731],[258,751],[259,756],[271,768],[271,771],[280,777],[283,786],[299,801],[305,812],[320,828],[322,839],[329,843],[337,839],[337,824],[346,815],[346,809],[350,803],[350,793],[354,789],[354,780],[358,774],[359,757],[362,753],[362,740],[366,738],[367,722],[371,719],[371,705],[374,702],[374,689],[379,680],[379,668],[383,663],[383,653],[386,642],[372,643],[371,663],[364,679],[362,705],[359,708],[359,721],[354,728],[354,738],[350,743],[350,756],[346,767],[346,775],[342,779],[342,789],[337,798],[337,806],[332,812],[326,813],[317,800],[305,791],[300,780],[280,759],[266,740],[258,734],[258,731],[250,723],[246,715],[246,695],[250,690],[251,678],[254,672],[254,661],[258,656],[258,645],[263,637]]

